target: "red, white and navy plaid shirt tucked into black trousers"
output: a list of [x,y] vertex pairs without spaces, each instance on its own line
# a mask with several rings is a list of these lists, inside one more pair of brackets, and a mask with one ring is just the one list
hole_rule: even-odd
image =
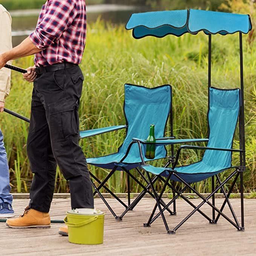
[[35,54],[36,66],[80,64],[86,41],[85,0],[48,0],[29,37],[42,50]]

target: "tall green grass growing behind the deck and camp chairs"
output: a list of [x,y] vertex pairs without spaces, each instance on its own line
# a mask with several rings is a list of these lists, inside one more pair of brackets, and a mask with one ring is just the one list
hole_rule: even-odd
[[[244,36],[244,84],[247,172],[245,190],[256,189],[256,53],[247,45]],[[123,115],[124,84],[147,87],[171,84],[173,87],[174,133],[177,138],[204,138],[207,136],[207,36],[185,34],[182,37],[144,38],[134,40],[124,26],[114,27],[101,21],[89,25],[86,51],[81,69],[85,82],[81,98],[81,130],[125,124]],[[239,35],[214,35],[212,37],[213,66],[212,85],[220,88],[239,87]],[[15,61],[17,66],[28,67],[32,58]],[[23,81],[20,74],[12,73],[11,95],[6,107],[27,117],[30,115],[32,84]],[[6,113],[0,115],[5,135],[5,145],[11,168],[12,191],[29,190],[32,173],[26,155],[28,125]],[[148,129],[148,127],[145,127]],[[167,136],[170,135],[167,129]],[[123,130],[81,141],[87,158],[116,152],[125,136]],[[238,133],[234,147],[238,147]],[[176,148],[177,149],[177,148]],[[181,164],[201,159],[202,152],[193,150],[182,153]],[[233,154],[233,164],[239,164],[239,156]],[[161,161],[158,163],[161,164]],[[102,179],[109,170],[90,166],[90,170]],[[135,176],[138,176],[134,172]],[[222,178],[228,173],[222,174]],[[142,181],[143,182],[143,181]],[[127,192],[127,177],[117,172],[110,179],[109,187],[115,192]],[[160,186],[160,183],[158,184]],[[195,186],[201,192],[211,189],[210,181]],[[140,191],[132,182],[132,192]],[[235,187],[234,192],[239,190]],[[56,176],[56,192],[68,192],[68,184],[60,170]]]

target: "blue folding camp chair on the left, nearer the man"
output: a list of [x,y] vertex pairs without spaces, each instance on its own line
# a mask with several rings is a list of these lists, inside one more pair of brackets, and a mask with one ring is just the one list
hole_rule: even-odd
[[[125,84],[125,100],[124,100],[124,115],[126,118],[126,125],[124,126],[113,126],[95,130],[88,130],[80,132],[81,138],[87,138],[90,136],[99,135],[106,132],[115,131],[118,129],[126,128],[126,138],[124,139],[123,144],[119,147],[118,152],[106,155],[98,158],[89,158],[87,163],[93,166],[97,166],[103,169],[111,170],[109,174],[103,181],[100,181],[95,175],[90,173],[91,177],[97,181],[100,185],[97,187],[94,182],[92,185],[95,189],[94,195],[98,193],[100,198],[104,201],[106,206],[109,208],[112,215],[117,220],[122,220],[123,216],[129,211],[132,210],[136,204],[143,198],[143,196],[148,192],[151,196],[154,197],[153,193],[149,191],[150,184],[143,185],[135,176],[130,173],[131,169],[136,169],[139,175],[144,181],[147,181],[144,175],[138,169],[139,164],[141,163],[139,149],[136,146],[135,142],[132,141],[133,137],[147,138],[149,135],[150,124],[155,124],[155,137],[160,138],[160,140],[175,139],[173,137],[173,124],[172,124],[172,87],[170,85],[159,86],[155,88],[146,88],[143,86],[136,86],[132,84]],[[167,120],[170,115],[170,128],[171,128],[171,137],[163,138]],[[205,139],[185,139],[185,140],[175,140],[175,143],[186,143],[193,141],[205,141]],[[144,152],[143,152],[144,155]],[[173,146],[172,146],[172,156],[173,156]],[[173,157],[169,157],[167,165],[174,161]],[[158,147],[155,152],[155,159],[161,159],[167,157],[167,150],[165,147]],[[106,183],[109,178],[116,171],[124,171],[127,173],[127,187],[128,187],[128,205],[126,205],[120,198],[118,198]],[[130,178],[137,182],[142,188],[143,192],[132,202],[130,203]],[[153,180],[154,183],[157,180]],[[109,192],[121,205],[123,205],[126,210],[122,215],[117,216],[110,205],[107,203],[106,199],[100,192],[100,189],[104,188]],[[162,200],[159,200],[160,204],[164,207],[166,206]],[[168,207],[167,210],[170,214],[174,214]]]

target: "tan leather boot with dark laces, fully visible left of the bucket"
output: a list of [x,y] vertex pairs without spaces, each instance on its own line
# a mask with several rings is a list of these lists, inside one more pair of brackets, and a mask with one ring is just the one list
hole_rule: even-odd
[[6,225],[10,228],[50,228],[51,219],[49,213],[26,207],[23,215],[8,219]]

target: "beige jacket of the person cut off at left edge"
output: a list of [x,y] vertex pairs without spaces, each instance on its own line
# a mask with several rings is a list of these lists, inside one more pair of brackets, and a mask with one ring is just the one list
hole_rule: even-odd
[[[0,54],[12,49],[11,35],[12,18],[9,12],[0,8]],[[11,61],[8,61],[11,64]],[[0,69],[0,101],[5,102],[11,87],[11,70],[3,67]]]

